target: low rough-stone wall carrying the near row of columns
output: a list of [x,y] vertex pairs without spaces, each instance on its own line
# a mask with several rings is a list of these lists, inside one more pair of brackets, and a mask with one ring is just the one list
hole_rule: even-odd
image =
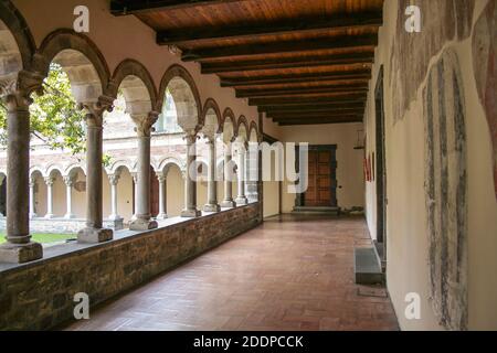
[[121,293],[255,227],[258,208],[254,203],[154,231],[121,231],[108,243],[60,245],[38,261],[0,264],[0,330],[46,330],[71,320],[75,293],[87,293],[91,306]]

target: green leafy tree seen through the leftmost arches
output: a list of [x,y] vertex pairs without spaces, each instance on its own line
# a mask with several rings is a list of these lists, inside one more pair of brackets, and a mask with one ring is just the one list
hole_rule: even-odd
[[[43,81],[44,95],[33,94],[30,106],[31,138],[38,138],[51,149],[78,154],[85,151],[84,114],[71,93],[68,76],[59,64],[52,63]],[[7,146],[6,106],[0,109],[0,143]]]

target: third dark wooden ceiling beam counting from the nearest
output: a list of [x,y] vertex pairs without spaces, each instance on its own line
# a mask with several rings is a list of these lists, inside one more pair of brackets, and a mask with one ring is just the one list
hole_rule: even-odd
[[277,53],[302,53],[327,49],[341,49],[352,46],[377,45],[378,34],[348,35],[336,39],[318,39],[307,41],[278,41],[261,45],[234,45],[201,50],[184,51],[181,55],[183,62],[201,61],[208,58],[232,58],[236,56],[251,56]]

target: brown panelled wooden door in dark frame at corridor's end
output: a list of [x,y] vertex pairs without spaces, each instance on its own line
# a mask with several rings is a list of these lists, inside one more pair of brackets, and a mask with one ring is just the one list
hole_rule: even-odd
[[308,188],[305,193],[306,206],[331,206],[331,151],[309,151],[308,154]]

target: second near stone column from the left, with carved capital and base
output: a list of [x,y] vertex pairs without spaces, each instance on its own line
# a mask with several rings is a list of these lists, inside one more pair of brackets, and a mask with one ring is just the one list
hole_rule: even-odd
[[103,228],[103,120],[112,110],[113,99],[101,97],[84,104],[86,120],[86,227],[77,234],[80,243],[102,243],[113,238],[113,231]]

